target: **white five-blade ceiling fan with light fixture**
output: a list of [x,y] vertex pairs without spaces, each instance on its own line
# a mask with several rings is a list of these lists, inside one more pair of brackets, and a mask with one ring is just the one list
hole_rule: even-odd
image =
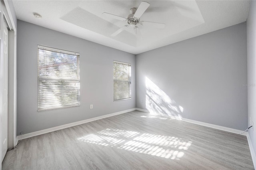
[[140,21],[140,17],[142,16],[142,14],[144,14],[144,12],[146,11],[146,9],[148,9],[149,6],[150,6],[150,4],[148,2],[142,1],[140,3],[140,6],[137,9],[136,8],[131,8],[130,9],[131,14],[128,15],[127,18],[103,12],[102,15],[104,15],[104,16],[108,16],[108,17],[114,18],[116,20],[126,21],[128,23],[128,25],[125,25],[125,26],[121,27],[116,32],[111,34],[111,36],[114,37],[114,36],[120,34],[122,31],[124,31],[129,26],[134,29],[134,33],[137,36],[139,36],[140,38],[141,38],[141,34],[140,34],[139,27],[138,27],[139,25],[153,26],[155,28],[164,28],[165,24],[163,24],[163,23],[150,22],[150,21]]

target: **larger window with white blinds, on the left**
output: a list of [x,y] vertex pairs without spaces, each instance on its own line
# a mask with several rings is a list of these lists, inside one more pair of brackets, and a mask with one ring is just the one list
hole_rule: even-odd
[[38,45],[38,111],[80,105],[79,55]]

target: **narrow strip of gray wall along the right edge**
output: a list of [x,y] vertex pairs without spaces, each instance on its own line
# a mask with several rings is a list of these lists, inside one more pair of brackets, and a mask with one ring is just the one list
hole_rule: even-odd
[[[256,155],[256,1],[251,1],[247,19],[248,130]],[[251,124],[250,124],[251,118]],[[256,165],[255,165],[256,166]]]

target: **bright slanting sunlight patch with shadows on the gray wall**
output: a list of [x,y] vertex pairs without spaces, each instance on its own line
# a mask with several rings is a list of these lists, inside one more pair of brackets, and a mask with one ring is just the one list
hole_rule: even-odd
[[152,115],[181,120],[183,107],[176,104],[164,91],[146,77],[146,109]]

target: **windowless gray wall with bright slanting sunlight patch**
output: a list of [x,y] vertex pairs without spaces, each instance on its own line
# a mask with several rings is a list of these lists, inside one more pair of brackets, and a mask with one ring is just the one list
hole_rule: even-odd
[[136,55],[136,107],[177,119],[246,129],[246,83],[246,23]]

